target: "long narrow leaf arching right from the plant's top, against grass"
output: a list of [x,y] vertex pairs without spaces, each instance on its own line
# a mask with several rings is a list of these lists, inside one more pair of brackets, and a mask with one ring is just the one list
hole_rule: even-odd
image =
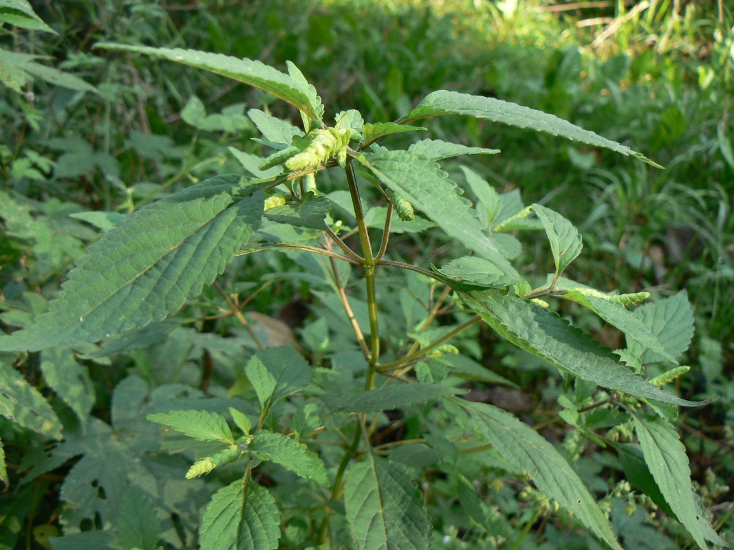
[[426,95],[413,111],[410,111],[407,116],[401,118],[398,122],[404,124],[405,122],[413,122],[414,120],[445,114],[465,114],[470,117],[485,118],[493,122],[517,126],[517,128],[530,128],[531,130],[550,133],[553,136],[561,136],[581,143],[594,145],[595,147],[605,147],[617,153],[622,153],[622,155],[631,155],[639,158],[639,160],[647,162],[647,164],[651,164],[656,168],[662,167],[650,161],[649,158],[644,157],[641,153],[631,150],[629,147],[597,136],[593,132],[579,128],[567,120],[554,117],[552,114],[528,109],[528,107],[495,98],[447,92],[444,89]]

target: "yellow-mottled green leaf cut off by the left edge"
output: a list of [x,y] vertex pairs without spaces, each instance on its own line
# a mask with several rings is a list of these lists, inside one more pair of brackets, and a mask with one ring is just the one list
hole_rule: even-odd
[[0,415],[49,439],[61,439],[61,422],[21,373],[0,363]]

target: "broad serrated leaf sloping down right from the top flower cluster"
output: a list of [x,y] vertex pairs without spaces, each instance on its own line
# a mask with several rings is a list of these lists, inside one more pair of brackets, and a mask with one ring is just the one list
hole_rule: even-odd
[[505,274],[520,277],[484,233],[471,203],[457,194],[457,184],[435,163],[407,151],[383,150],[364,156],[368,167],[385,186],[413,203],[449,237],[492,260]]

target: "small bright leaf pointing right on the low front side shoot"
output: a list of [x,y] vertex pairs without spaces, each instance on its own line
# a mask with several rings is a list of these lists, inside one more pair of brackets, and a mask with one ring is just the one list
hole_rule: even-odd
[[260,430],[250,441],[247,450],[257,458],[272,461],[307,480],[328,485],[324,461],[304,444],[288,436]]

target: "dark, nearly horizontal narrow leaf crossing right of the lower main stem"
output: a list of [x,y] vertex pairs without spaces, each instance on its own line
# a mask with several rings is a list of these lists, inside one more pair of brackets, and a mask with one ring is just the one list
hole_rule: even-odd
[[465,389],[440,384],[390,384],[369,392],[344,395],[327,403],[332,411],[379,412],[393,408],[404,408],[415,403],[437,401],[446,395],[465,392]]

